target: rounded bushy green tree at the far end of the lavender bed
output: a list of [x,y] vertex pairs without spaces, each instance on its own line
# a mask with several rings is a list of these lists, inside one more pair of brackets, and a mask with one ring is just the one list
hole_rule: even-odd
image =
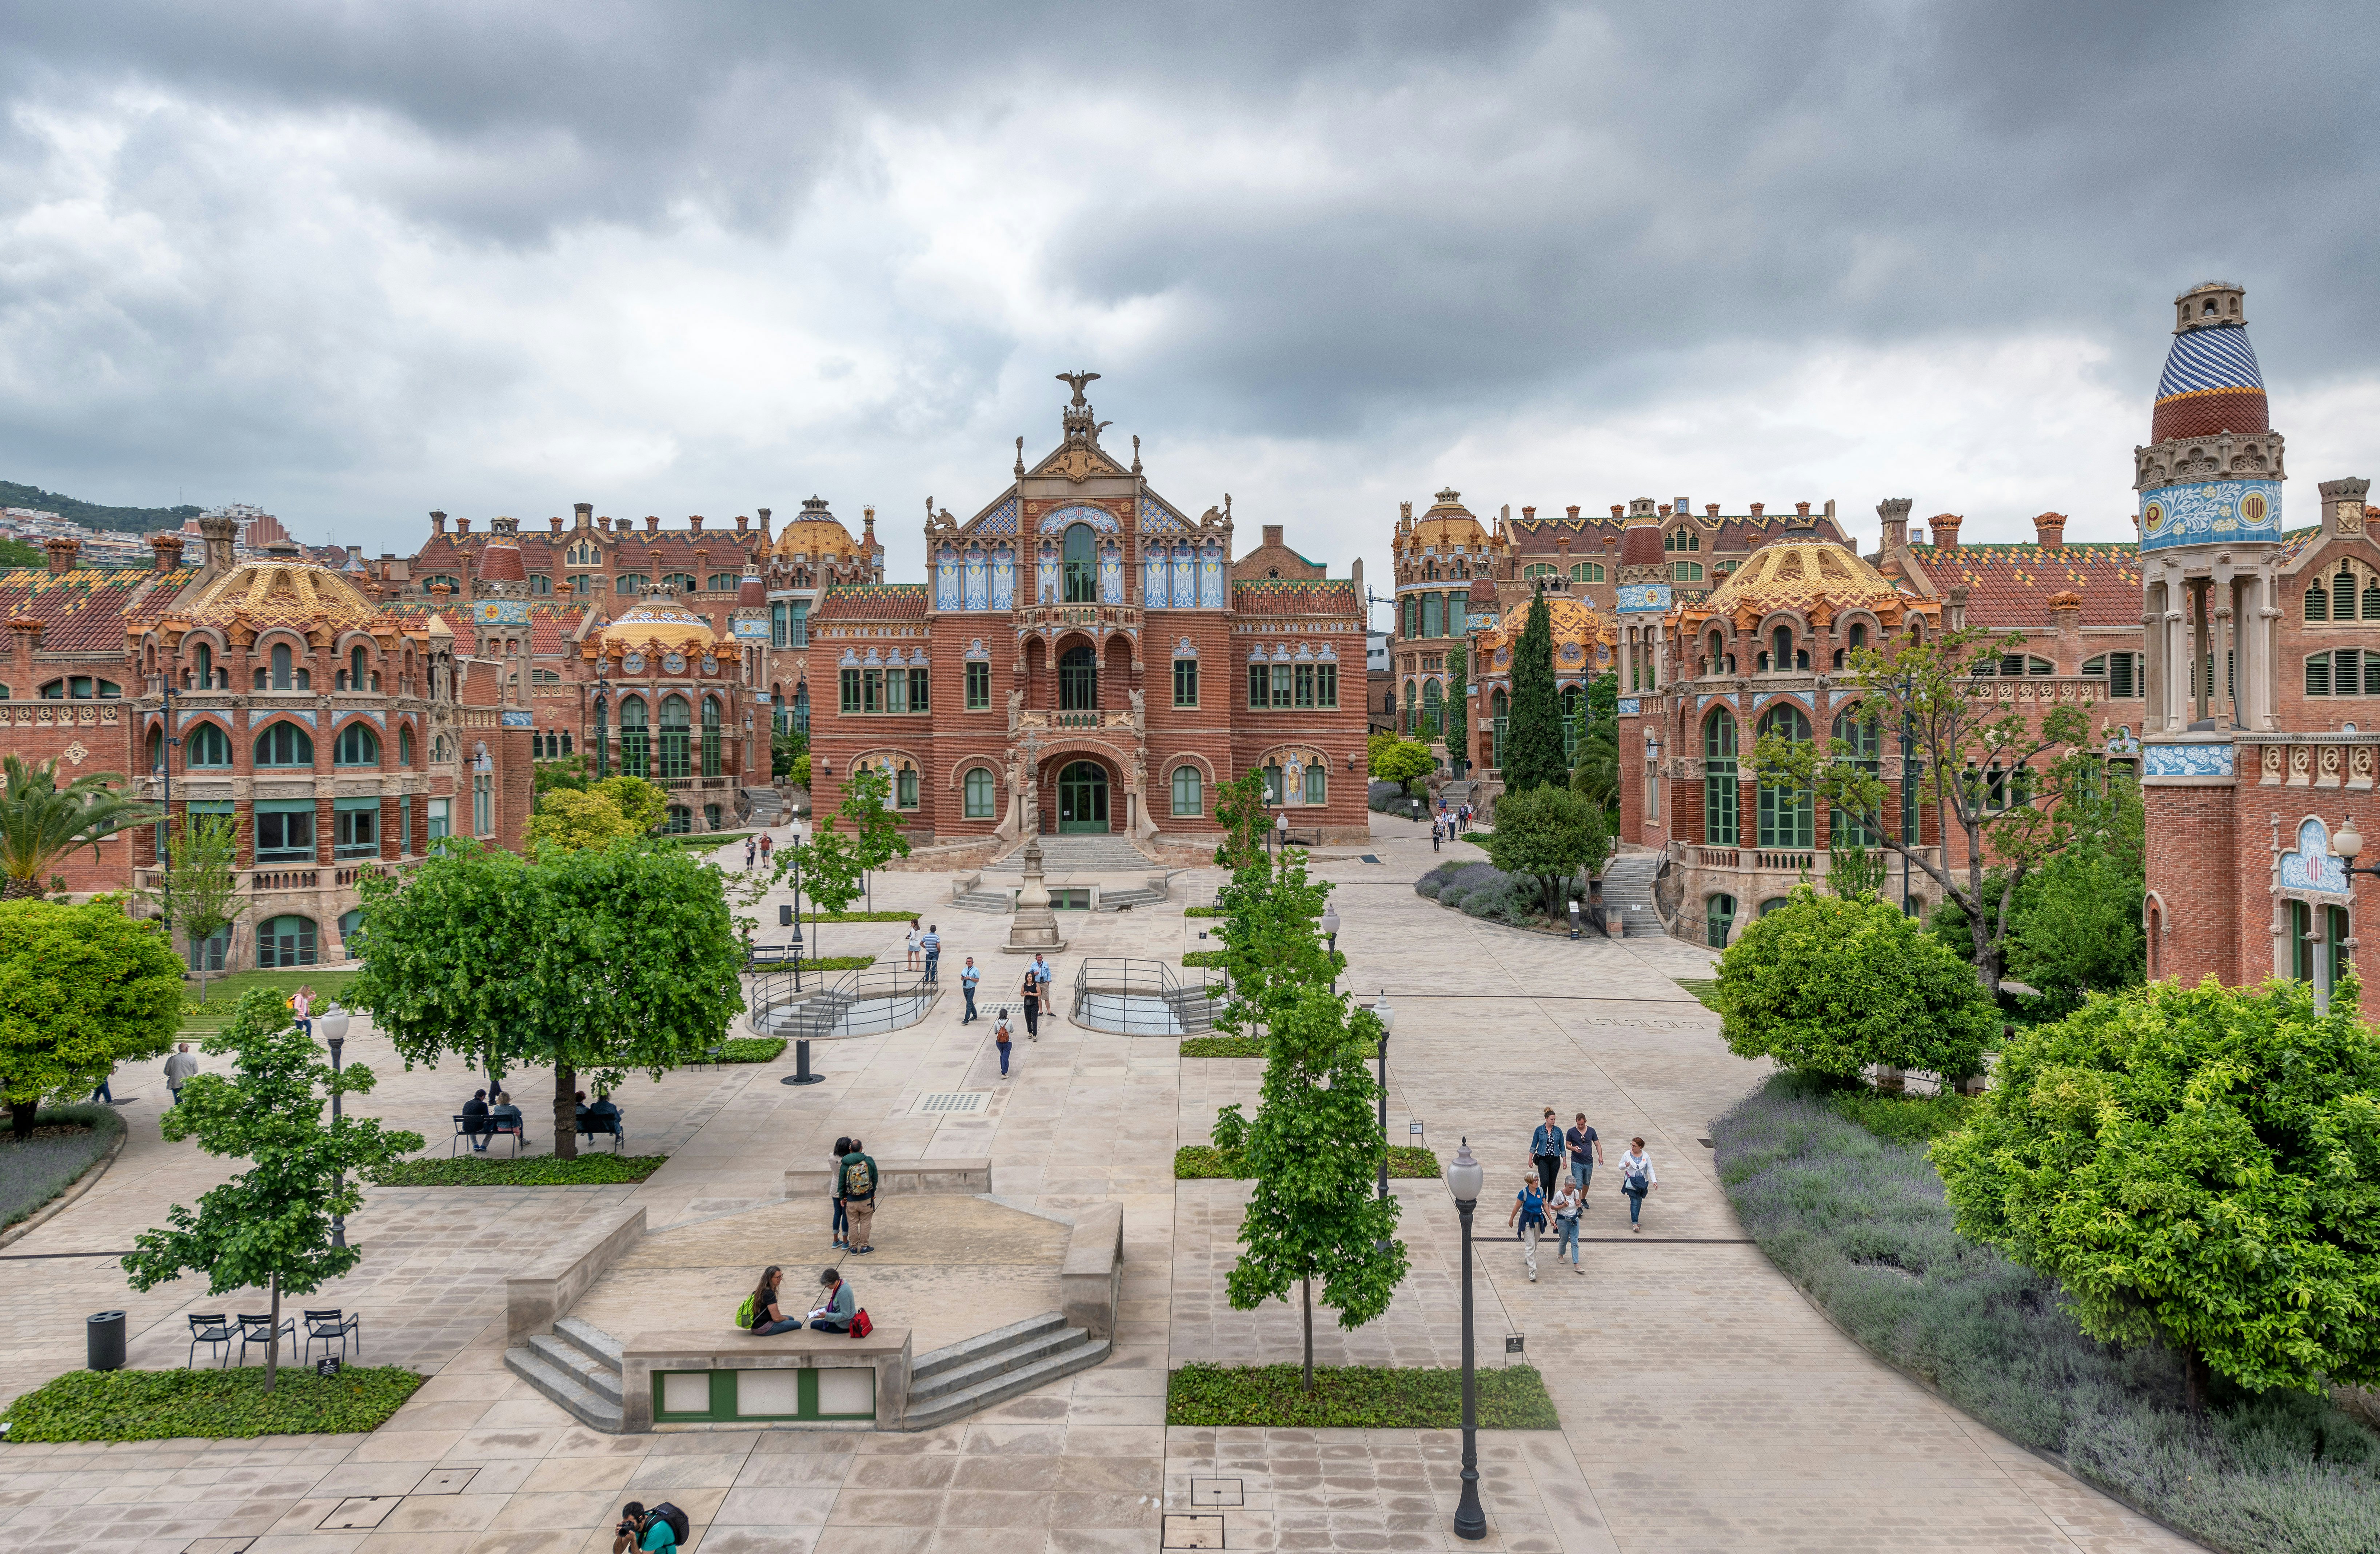
[[1735,1057],[1859,1078],[1868,1064],[1983,1071],[1999,1011],[1975,971],[1899,907],[1797,885],[1718,957],[1721,1035]]

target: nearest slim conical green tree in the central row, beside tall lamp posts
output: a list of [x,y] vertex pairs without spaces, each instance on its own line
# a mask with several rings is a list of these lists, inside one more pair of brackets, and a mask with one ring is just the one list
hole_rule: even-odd
[[[1299,921],[1297,933],[1316,938]],[[1299,961],[1283,950],[1283,961]],[[1216,1116],[1214,1142],[1240,1152],[1257,1188],[1240,1221],[1240,1261],[1226,1276],[1235,1311],[1299,1290],[1307,1392],[1314,1390],[1314,1280],[1354,1330],[1388,1311],[1404,1283],[1397,1199],[1376,1197],[1373,1171],[1385,1142],[1373,1116],[1378,1088],[1366,1059],[1380,1042],[1368,1009],[1314,980],[1283,983],[1269,997],[1264,1090],[1257,1116],[1238,1107]]]

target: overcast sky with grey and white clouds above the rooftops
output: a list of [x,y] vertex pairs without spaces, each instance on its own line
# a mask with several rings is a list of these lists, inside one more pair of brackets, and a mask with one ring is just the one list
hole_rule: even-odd
[[[412,550],[878,509],[1059,369],[1333,571],[1454,485],[2130,535],[2206,276],[2380,474],[2370,5],[0,7],[0,478]],[[2297,497],[2311,514],[2311,490]],[[1254,535],[1250,535],[1254,538]]]

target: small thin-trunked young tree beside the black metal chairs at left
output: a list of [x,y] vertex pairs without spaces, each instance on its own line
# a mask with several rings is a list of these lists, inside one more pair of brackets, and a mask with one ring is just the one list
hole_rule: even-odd
[[321,1047],[288,1016],[281,995],[252,988],[231,1026],[205,1049],[231,1054],[231,1073],[193,1073],[181,1104],[167,1107],[159,1128],[169,1140],[195,1138],[221,1159],[245,1159],[240,1171],[198,1199],[167,1209],[164,1230],[133,1237],[124,1259],[133,1290],[155,1290],[188,1271],[207,1276],[207,1295],[262,1285],[271,1297],[274,1337],[264,1347],[264,1390],[281,1364],[281,1297],[312,1295],[364,1261],[362,1247],[333,1245],[333,1221],[364,1207],[364,1178],[424,1147],[419,1133],[381,1128],[347,1109],[324,1118],[333,1095],[369,1095],[364,1064],[333,1073]]

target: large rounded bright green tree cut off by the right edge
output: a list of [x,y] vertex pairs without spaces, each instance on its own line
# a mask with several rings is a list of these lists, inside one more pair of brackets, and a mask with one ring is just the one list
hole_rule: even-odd
[[1933,1145],[1959,1233],[2054,1278],[2082,1330],[2254,1392],[2380,1383],[2380,1033],[2344,978],[2152,983],[2002,1049]]

